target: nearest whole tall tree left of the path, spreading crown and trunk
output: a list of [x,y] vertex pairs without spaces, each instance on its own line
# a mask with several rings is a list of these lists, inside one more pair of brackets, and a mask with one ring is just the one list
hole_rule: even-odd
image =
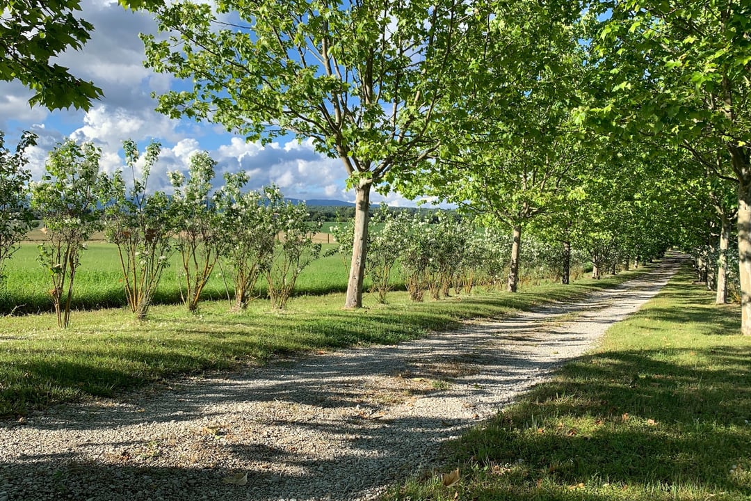
[[146,8],[169,35],[143,36],[146,65],[192,84],[161,95],[158,110],[249,140],[311,137],[342,161],[357,204],[345,307],[360,307],[371,189],[439,148],[431,124],[463,78],[465,62],[454,55],[482,18],[477,5],[219,0],[216,10],[187,1]]

